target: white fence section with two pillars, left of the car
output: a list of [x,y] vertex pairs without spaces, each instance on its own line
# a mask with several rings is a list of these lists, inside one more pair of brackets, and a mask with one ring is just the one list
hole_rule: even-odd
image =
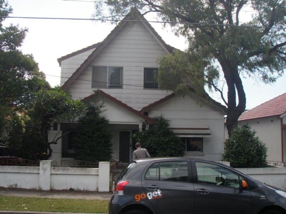
[[2,187],[108,192],[109,179],[109,162],[99,162],[99,168],[52,167],[52,161],[40,161],[40,167],[0,166]]

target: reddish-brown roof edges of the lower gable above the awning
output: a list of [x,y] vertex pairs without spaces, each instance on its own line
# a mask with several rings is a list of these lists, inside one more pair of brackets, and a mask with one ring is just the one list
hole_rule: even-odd
[[[192,88],[190,88],[190,92],[196,94],[196,93],[194,92],[194,89],[192,89]],[[155,107],[155,106],[157,106],[157,105],[159,105],[159,104],[161,104],[161,103],[163,103],[163,102],[165,102],[165,101],[167,101],[167,100],[169,100],[169,99],[171,99],[171,98],[173,98],[173,97],[175,97],[175,96],[176,96],[175,93],[171,93],[171,94],[167,95],[166,97],[163,97],[162,99],[157,100],[157,101],[155,101],[154,103],[151,103],[151,104],[149,104],[148,106],[143,107],[140,111],[141,111],[141,112],[149,112],[149,111],[151,111],[151,109],[152,109],[153,107]],[[219,102],[217,102],[217,101],[215,101],[214,99],[212,99],[212,98],[208,95],[208,93],[205,92],[204,95],[199,96],[199,97],[201,97],[201,98],[203,98],[203,99],[209,101],[211,104],[214,104],[215,106],[221,108],[221,109],[224,111],[224,113],[227,112],[227,108],[226,108],[224,105],[222,105],[222,104],[220,104]]]

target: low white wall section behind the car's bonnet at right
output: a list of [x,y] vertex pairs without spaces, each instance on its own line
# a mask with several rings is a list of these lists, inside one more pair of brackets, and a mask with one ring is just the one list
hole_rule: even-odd
[[286,190],[286,168],[238,168],[257,181]]

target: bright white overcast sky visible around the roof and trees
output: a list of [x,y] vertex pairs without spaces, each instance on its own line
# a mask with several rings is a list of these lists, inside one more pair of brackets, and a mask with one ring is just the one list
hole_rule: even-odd
[[[24,17],[56,17],[56,18],[86,18],[94,12],[92,2],[77,2],[65,0],[9,0],[13,8],[10,16]],[[245,10],[250,10],[246,8]],[[251,12],[243,12],[243,18],[250,17]],[[145,15],[148,21],[155,20],[155,14]],[[102,41],[115,27],[110,23],[78,21],[78,20],[51,20],[51,19],[6,19],[4,24],[19,24],[27,27],[23,46],[23,53],[32,53],[40,70],[46,75],[60,76],[61,68],[57,58],[72,53],[78,49]],[[160,23],[150,23],[164,41],[178,49],[187,47],[183,37],[176,37],[171,30],[162,29]],[[59,77],[46,76],[51,86],[59,85]],[[252,79],[243,79],[246,92],[246,109],[253,108],[278,95],[286,92],[286,75],[284,74],[272,85],[265,85]],[[222,103],[219,95],[210,94],[212,98]]]

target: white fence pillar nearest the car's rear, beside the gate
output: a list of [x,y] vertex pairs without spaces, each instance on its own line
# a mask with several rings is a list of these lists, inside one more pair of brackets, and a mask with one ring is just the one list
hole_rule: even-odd
[[110,162],[99,162],[98,192],[109,192]]

